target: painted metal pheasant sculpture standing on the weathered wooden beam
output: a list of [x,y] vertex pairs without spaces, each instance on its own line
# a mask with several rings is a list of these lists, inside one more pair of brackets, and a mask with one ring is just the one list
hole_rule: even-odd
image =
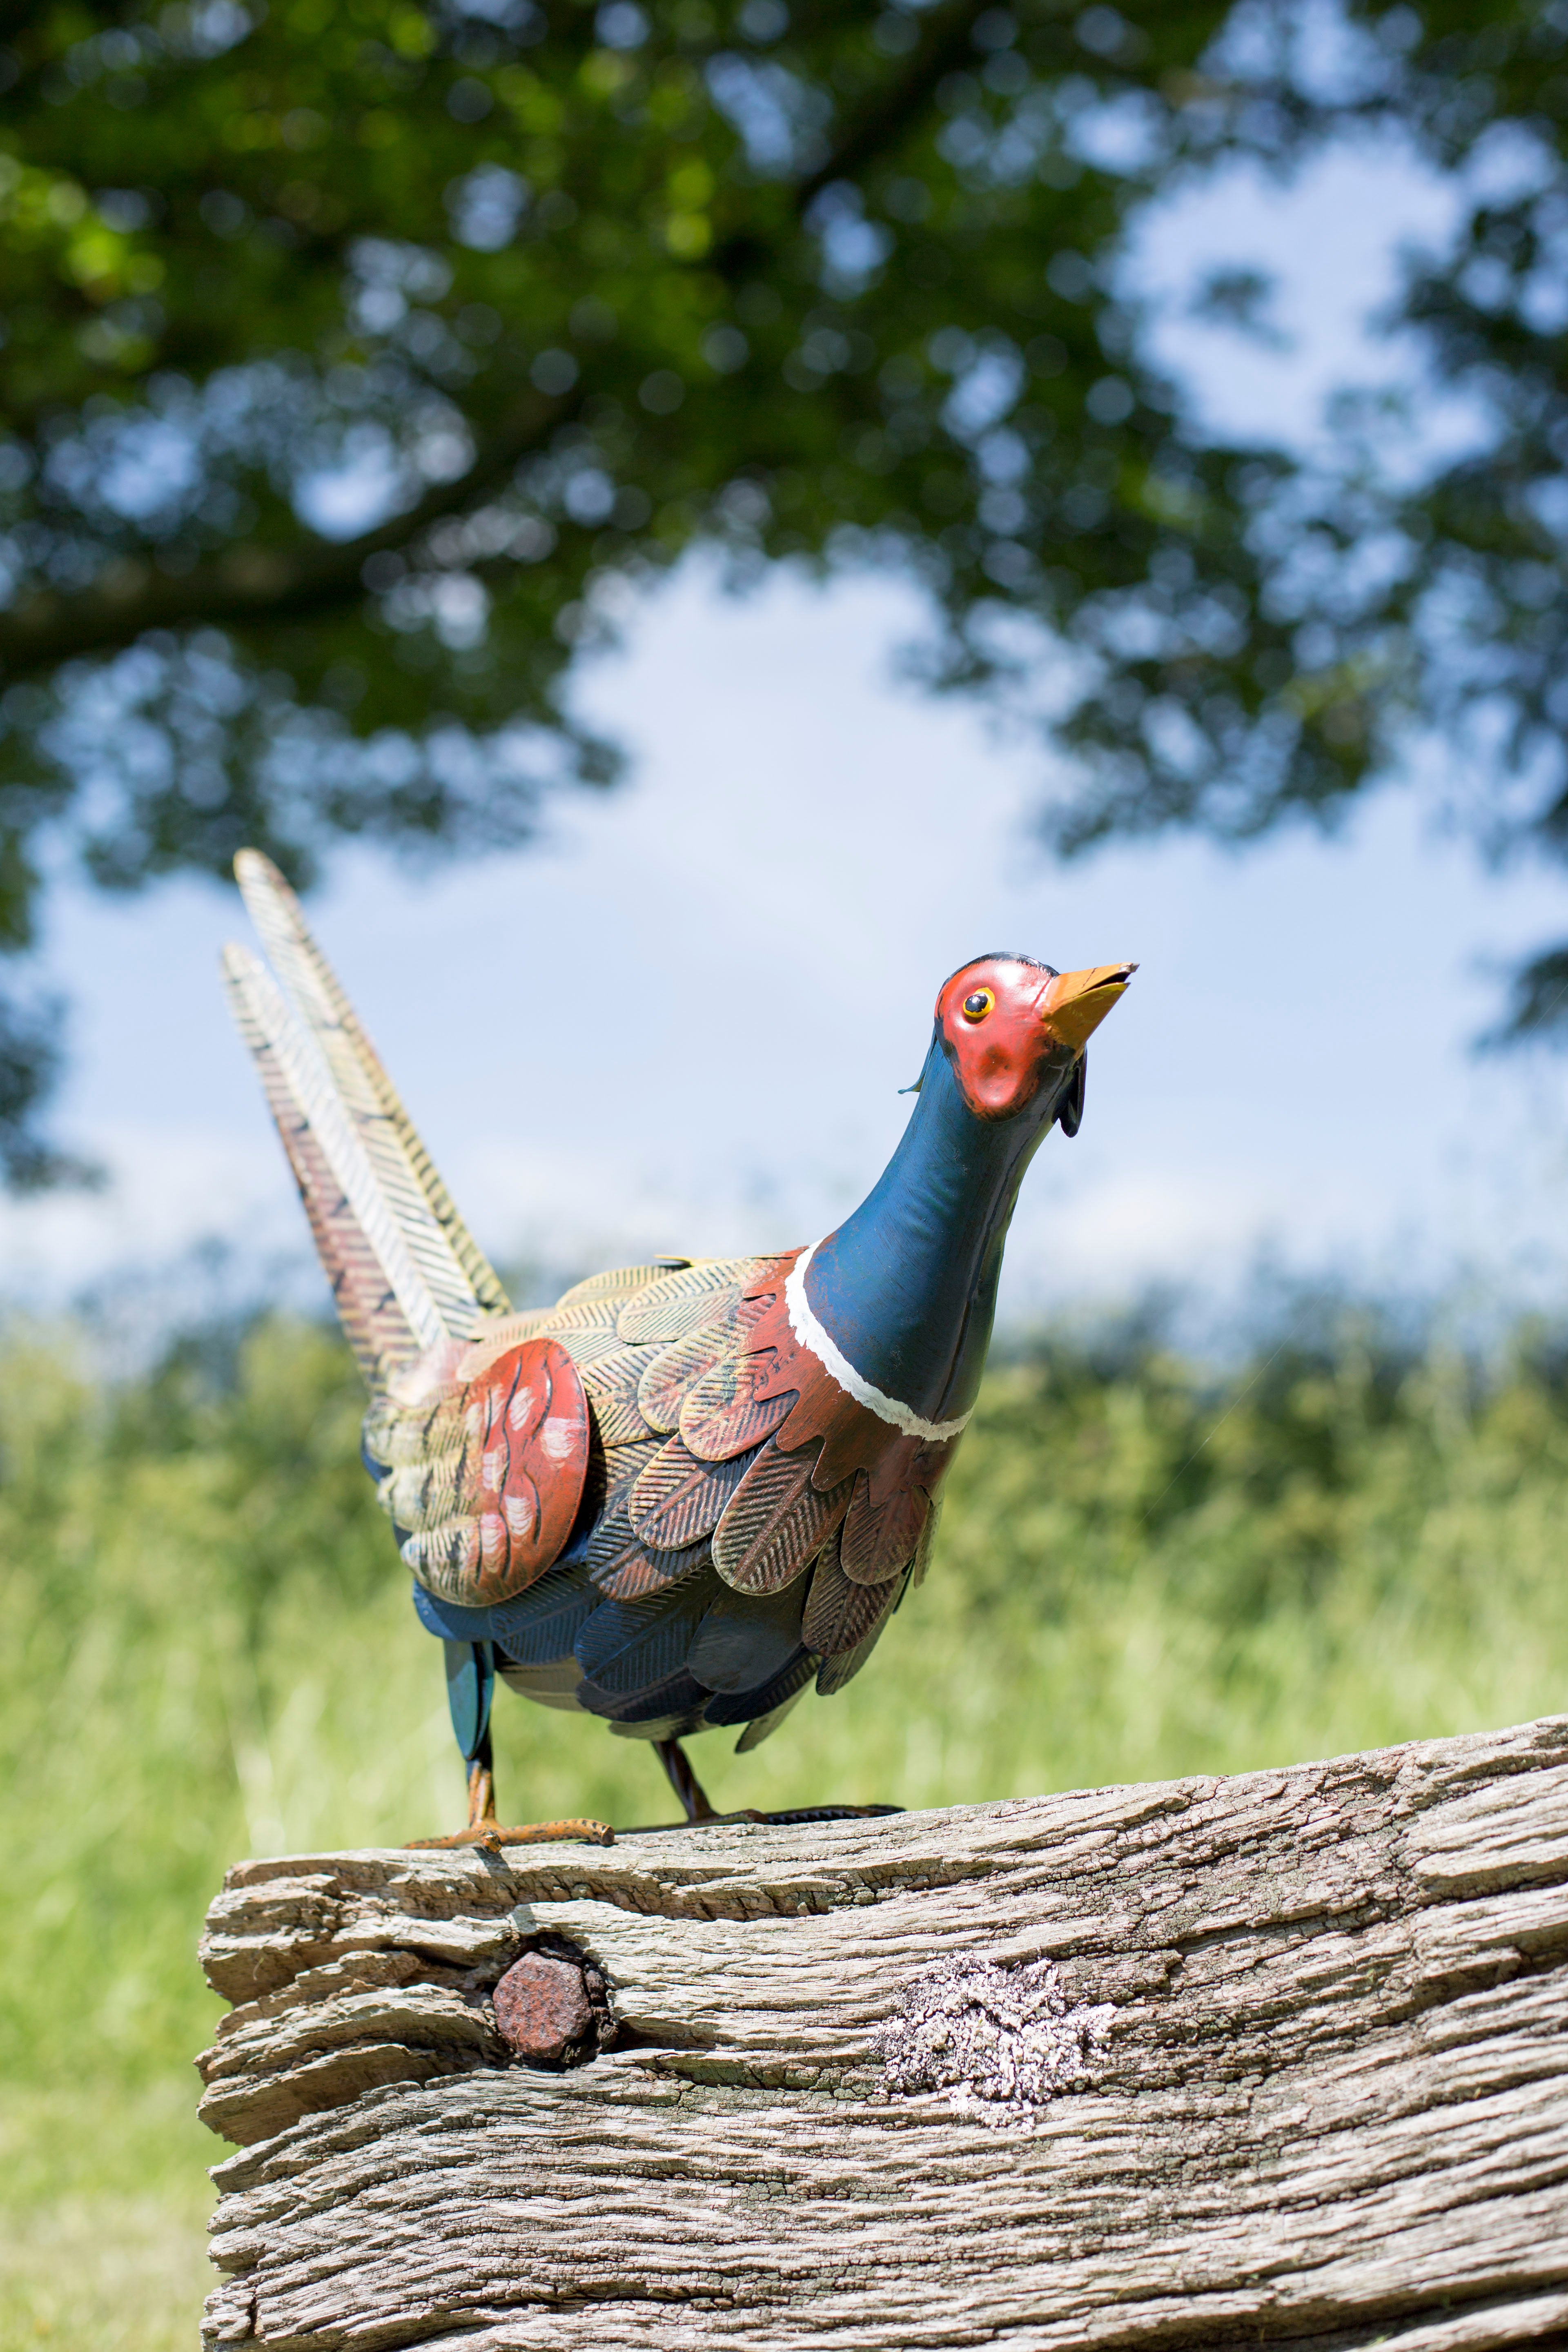
[[[515,1315],[292,889],[252,849],[235,873],[273,971],[228,948],[230,1002],[444,1642],[468,1825],[428,1844],[611,1839],[498,1825],[496,1677],[654,1740],[686,1818],[715,1818],[679,1743],[733,1724],[750,1750],[806,1684],[844,1689],[924,1573],[1023,1174],[1053,1124],[1077,1134],[1084,1047],[1135,967],[957,971],[898,1150],[811,1249],[621,1265]],[[853,1811],[882,1806],[766,1818]]]

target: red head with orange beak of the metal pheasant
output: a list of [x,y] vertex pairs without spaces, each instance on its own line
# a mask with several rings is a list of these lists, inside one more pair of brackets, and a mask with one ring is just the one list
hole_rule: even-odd
[[978,1120],[1011,1120],[1046,1073],[1065,1075],[1138,964],[1051,971],[1013,955],[964,964],[936,1000],[936,1028]]

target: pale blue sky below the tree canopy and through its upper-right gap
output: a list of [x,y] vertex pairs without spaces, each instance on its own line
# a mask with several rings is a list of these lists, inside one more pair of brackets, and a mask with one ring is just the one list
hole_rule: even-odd
[[[1150,223],[1159,348],[1239,430],[1321,430],[1361,320],[1446,205],[1396,155],[1298,191],[1232,181]],[[1281,270],[1284,353],[1182,322],[1215,259]],[[893,675],[896,581],[778,576],[726,600],[703,564],[583,675],[632,750],[611,797],[552,804],[517,856],[416,875],[369,851],[313,901],[322,943],[491,1251],[555,1265],[827,1230],[898,1136],[940,978],[1020,946],[1135,957],[1093,1047],[1088,1117],[1034,1164],[1006,1303],[1222,1296],[1260,1251],[1352,1279],[1561,1298],[1566,1070],[1481,1061],[1497,967],[1568,927],[1561,875],[1488,875],[1389,788],[1324,842],[1197,842],[1063,868],[1030,835],[1051,771]],[[96,1200],[0,1209],[7,1287],[40,1301],[205,1235],[294,1251],[299,1209],[216,985],[240,910],[181,882],[66,891],[49,962],[78,997],[61,1124]],[[1490,967],[1490,969],[1488,969]]]

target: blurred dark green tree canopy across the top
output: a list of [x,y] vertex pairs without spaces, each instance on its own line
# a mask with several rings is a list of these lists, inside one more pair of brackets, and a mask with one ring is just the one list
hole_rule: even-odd
[[[614,776],[574,656],[698,543],[903,567],[933,687],[1053,644],[1065,849],[1328,816],[1413,724],[1474,739],[1493,844],[1568,849],[1568,0],[24,0],[5,42],[14,960],[61,847],[125,889],[527,837]],[[1389,132],[1460,198],[1399,315],[1460,454],[1387,397],[1331,459],[1204,435],[1143,207]],[[1559,1011],[1568,948],[1519,978]],[[49,1023],[0,1018],[19,1183]]]

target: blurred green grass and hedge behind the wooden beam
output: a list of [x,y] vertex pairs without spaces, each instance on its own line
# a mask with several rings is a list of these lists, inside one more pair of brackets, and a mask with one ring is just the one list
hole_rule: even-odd
[[[1258,1369],[1260,1367],[1260,1369]],[[1044,1343],[992,1374],[936,1564],[719,1802],[912,1806],[1284,1764],[1568,1705],[1568,1367],[1340,1317],[1227,1383]],[[207,2288],[195,1936],[240,1853],[451,1828],[440,1653],[315,1327],[113,1395],[0,1338],[0,2345],[165,2352]],[[668,1818],[656,1759],[508,1703],[508,1811]]]

